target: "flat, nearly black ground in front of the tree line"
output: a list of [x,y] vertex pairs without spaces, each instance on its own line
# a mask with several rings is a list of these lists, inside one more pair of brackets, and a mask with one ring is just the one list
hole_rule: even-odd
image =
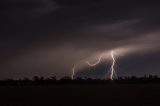
[[0,106],[158,106],[160,84],[1,86]]

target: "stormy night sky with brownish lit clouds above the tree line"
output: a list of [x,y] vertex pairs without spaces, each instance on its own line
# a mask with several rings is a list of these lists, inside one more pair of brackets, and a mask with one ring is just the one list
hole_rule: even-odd
[[158,0],[0,0],[0,14],[0,79],[70,76],[111,50],[118,75],[160,75]]

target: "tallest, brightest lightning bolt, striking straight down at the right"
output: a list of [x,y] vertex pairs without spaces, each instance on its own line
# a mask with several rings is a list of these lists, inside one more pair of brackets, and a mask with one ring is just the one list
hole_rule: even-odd
[[110,55],[111,55],[111,58],[112,58],[110,79],[113,80],[114,74],[116,75],[115,69],[114,69],[114,66],[116,64],[116,60],[115,60],[115,57],[114,57],[114,51],[113,50],[110,52]]

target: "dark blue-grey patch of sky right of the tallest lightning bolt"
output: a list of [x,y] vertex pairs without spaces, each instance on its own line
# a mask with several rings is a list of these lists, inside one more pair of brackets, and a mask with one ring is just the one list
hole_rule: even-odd
[[134,54],[117,61],[117,72],[119,75],[136,75],[144,74],[159,75],[159,56],[160,52],[148,52],[143,54]]

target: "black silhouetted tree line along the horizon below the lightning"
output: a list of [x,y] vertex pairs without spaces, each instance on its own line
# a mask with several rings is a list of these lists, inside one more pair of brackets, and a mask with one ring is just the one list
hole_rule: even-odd
[[0,86],[7,85],[58,85],[58,84],[121,84],[121,83],[160,83],[160,77],[157,75],[144,75],[142,77],[136,76],[121,76],[117,79],[92,79],[88,77],[77,77],[71,79],[69,76],[64,76],[61,79],[57,79],[56,76],[50,78],[44,78],[34,76],[32,79],[23,78],[19,80],[5,79],[0,80]]

